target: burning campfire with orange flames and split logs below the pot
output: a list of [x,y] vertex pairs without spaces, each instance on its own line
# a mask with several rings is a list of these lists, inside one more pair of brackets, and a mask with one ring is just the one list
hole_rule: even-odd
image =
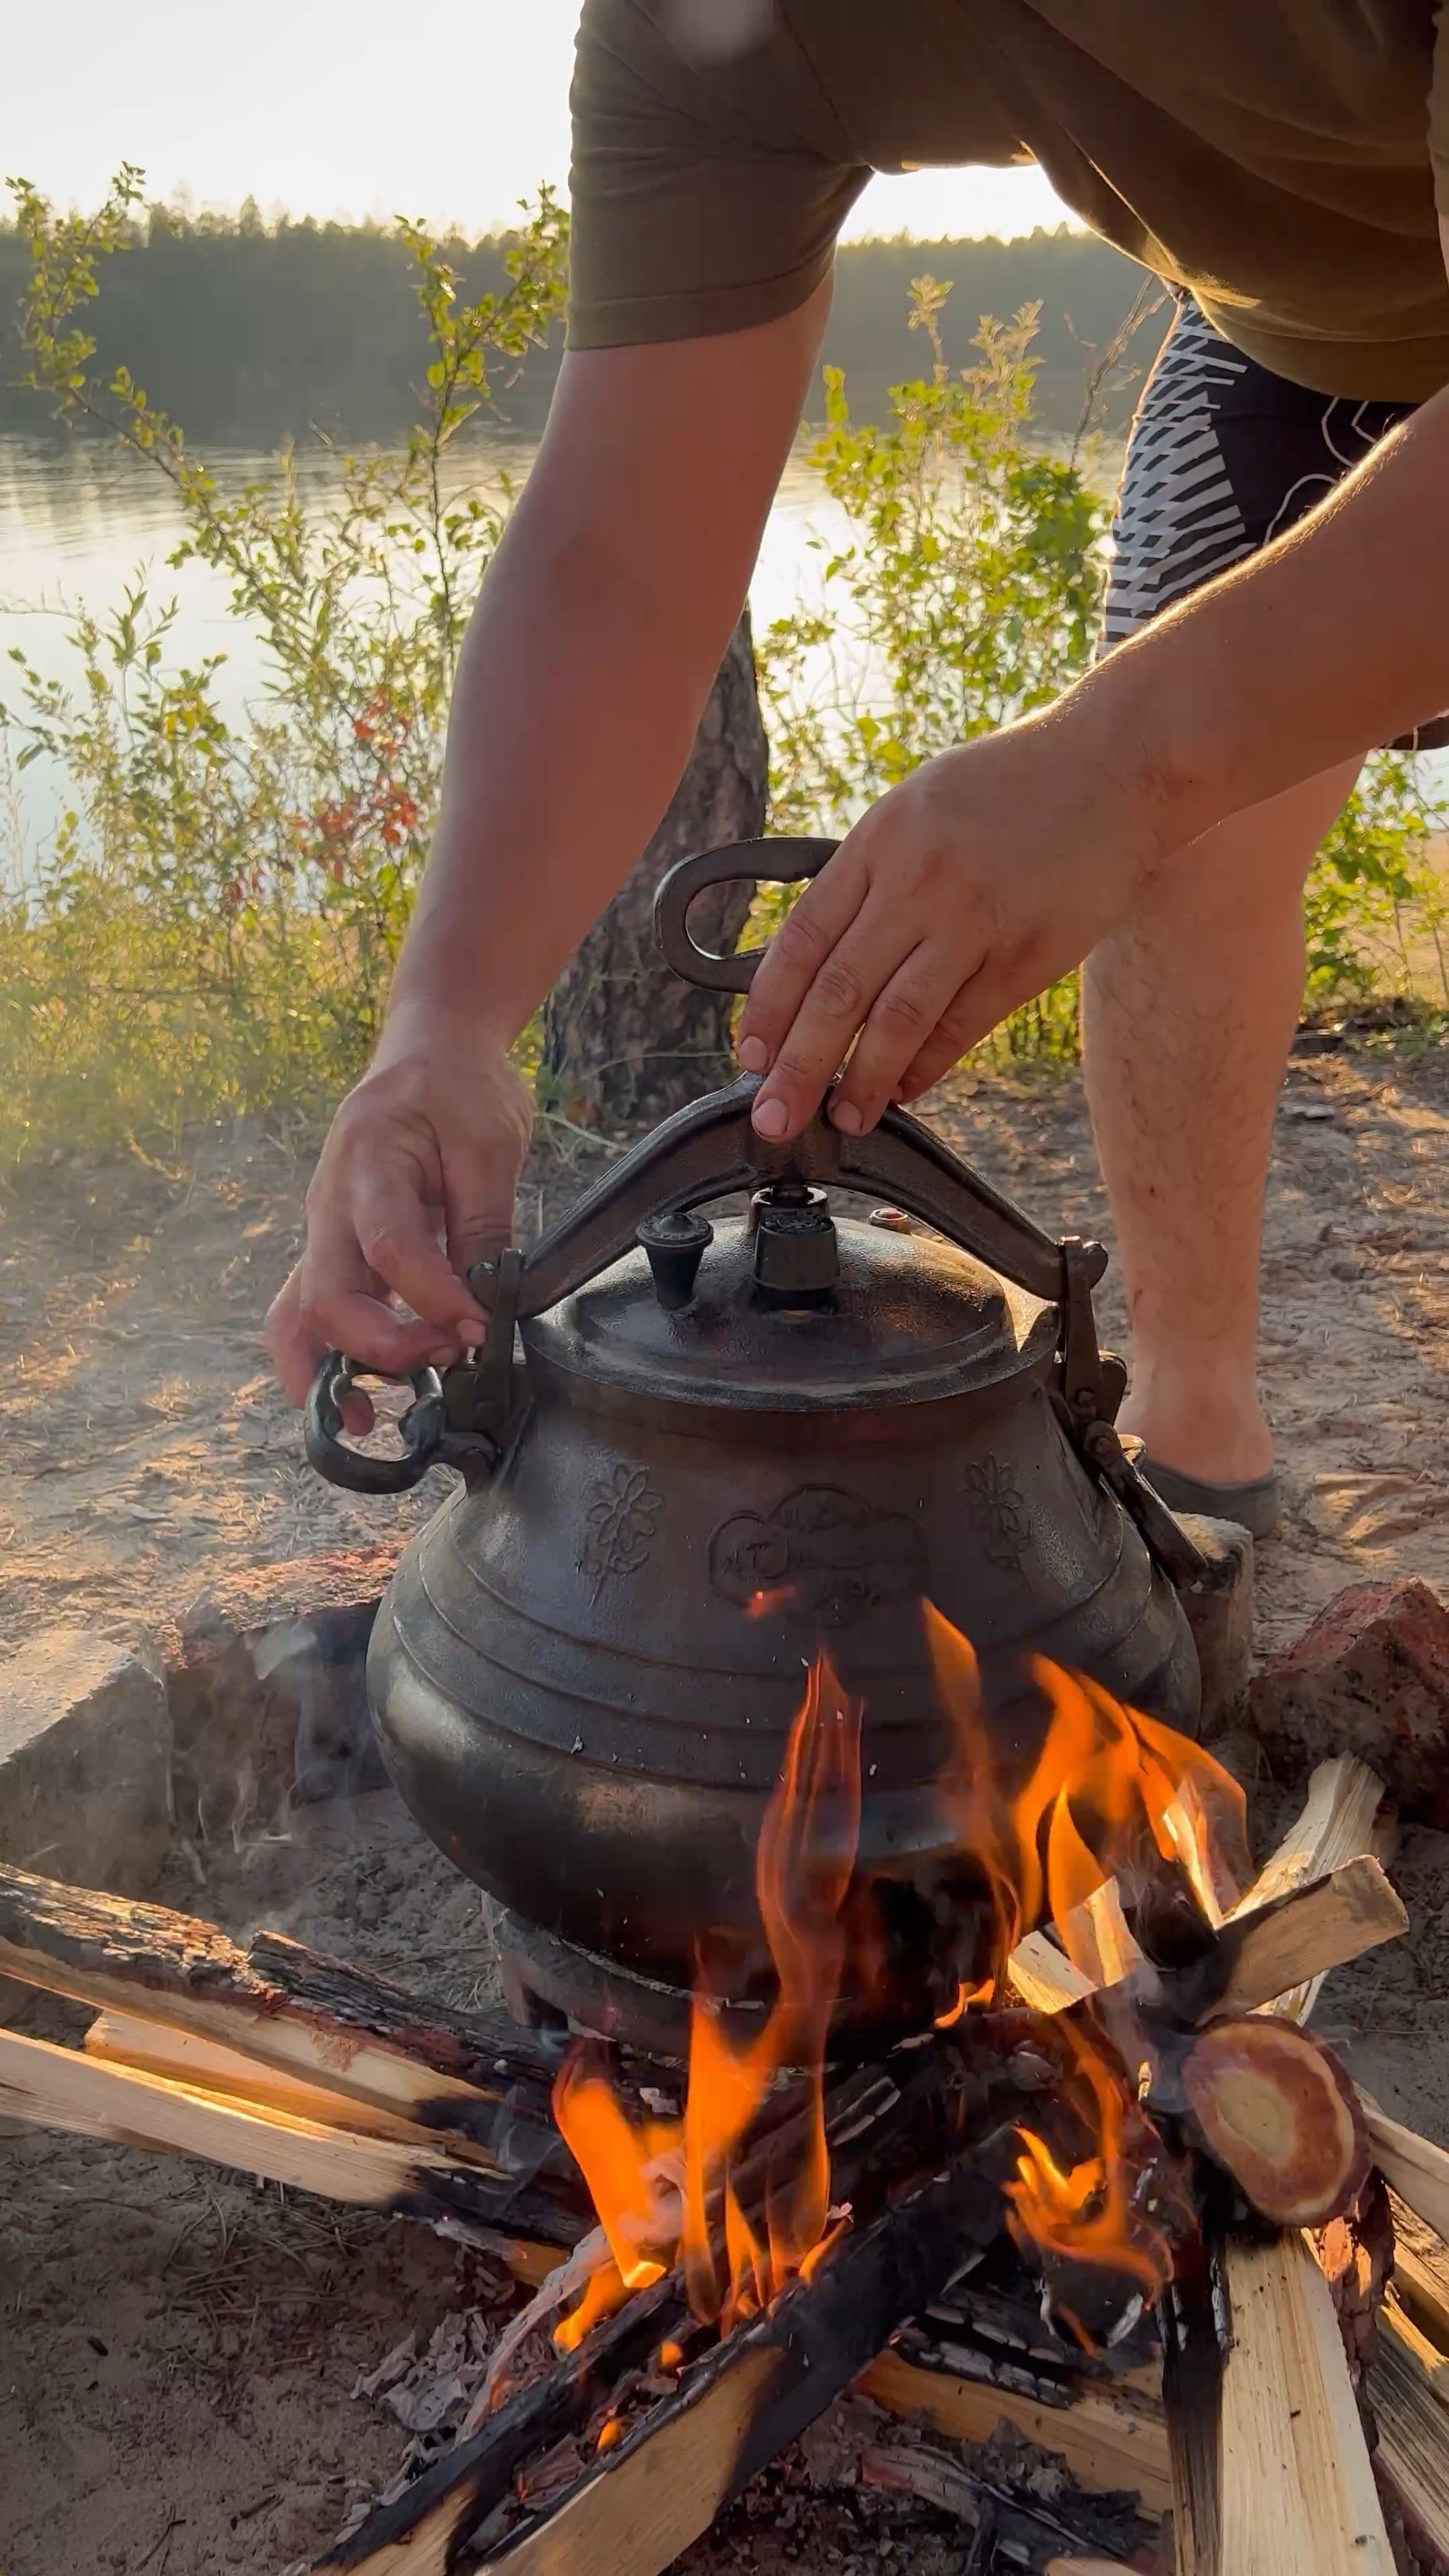
[[[861,2478],[967,2522],[931,2427],[1006,2421],[1171,2506],[1181,2576],[1449,2561],[1449,2156],[1302,2027],[1405,1929],[1374,1777],[1325,1765],[1253,1878],[1201,1747],[1047,1662],[1039,1726],[1000,1728],[928,1623],[964,1875],[926,2030],[825,1656],[758,1844],[768,2009],[701,1960],[686,2069],[603,2038],[557,2063],[281,1937],[0,1870],[0,1973],[98,2014],[85,2050],[0,2032],[0,2107],[384,2205],[536,2285],[459,2442],[322,2566],[655,2576],[851,2388],[926,2427],[864,2439]],[[1070,2563],[1060,2514],[1008,2540],[1003,2566]]]

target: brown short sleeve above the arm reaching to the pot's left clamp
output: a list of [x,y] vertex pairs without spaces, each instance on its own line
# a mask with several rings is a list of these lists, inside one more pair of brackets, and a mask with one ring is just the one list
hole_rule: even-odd
[[699,0],[585,0],[570,348],[694,340],[797,312],[871,175],[771,0],[727,57],[688,41],[696,21]]

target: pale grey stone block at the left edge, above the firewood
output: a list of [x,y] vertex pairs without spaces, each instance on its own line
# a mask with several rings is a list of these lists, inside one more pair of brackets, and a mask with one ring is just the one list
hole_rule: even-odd
[[157,1662],[46,1628],[0,1664],[0,1860],[144,1896],[170,1850],[170,1713]]

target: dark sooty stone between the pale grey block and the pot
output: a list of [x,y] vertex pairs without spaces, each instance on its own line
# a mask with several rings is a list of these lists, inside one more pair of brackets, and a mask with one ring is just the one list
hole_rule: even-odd
[[248,1566],[183,1613],[170,1672],[183,1832],[286,1829],[299,1801],[387,1785],[366,1713],[366,1646],[402,1546],[397,1535]]

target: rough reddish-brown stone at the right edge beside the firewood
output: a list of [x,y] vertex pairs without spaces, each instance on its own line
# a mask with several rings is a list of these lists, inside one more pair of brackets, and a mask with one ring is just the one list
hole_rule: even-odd
[[1351,1584],[1248,1692],[1248,1723],[1284,1785],[1359,1754],[1400,1816],[1449,1826],[1449,1610],[1400,1574]]

